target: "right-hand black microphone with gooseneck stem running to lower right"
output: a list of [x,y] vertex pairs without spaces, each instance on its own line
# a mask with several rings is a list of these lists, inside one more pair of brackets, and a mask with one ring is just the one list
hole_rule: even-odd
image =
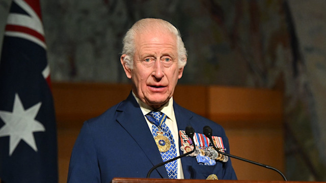
[[282,175],[283,179],[284,179],[285,181],[287,181],[287,179],[286,179],[286,177],[284,176],[284,174],[283,174],[280,170],[278,170],[278,169],[276,169],[276,168],[274,168],[274,167],[271,167],[271,166],[268,166],[268,165],[264,165],[264,164],[261,164],[261,163],[257,163],[257,162],[254,162],[254,161],[251,161],[251,160],[247,160],[247,159],[244,159],[244,158],[240,158],[240,157],[237,157],[237,156],[233,156],[233,155],[230,155],[230,154],[227,154],[227,153],[224,153],[224,152],[220,151],[220,149],[216,148],[215,145],[214,145],[214,142],[213,142],[213,139],[212,139],[212,129],[211,129],[210,127],[205,126],[205,127],[203,128],[203,133],[204,133],[204,135],[205,135],[206,137],[209,138],[210,142],[211,142],[212,145],[213,145],[213,148],[214,148],[216,151],[218,151],[218,153],[220,153],[220,154],[222,154],[222,155],[224,155],[224,156],[228,156],[228,157],[231,157],[231,158],[235,158],[235,159],[238,159],[238,160],[241,160],[241,161],[245,161],[245,162],[248,162],[248,163],[252,163],[252,164],[255,164],[255,165],[259,165],[259,166],[262,166],[262,167],[265,167],[265,168],[268,168],[268,169],[271,169],[271,170],[277,171],[279,174]]

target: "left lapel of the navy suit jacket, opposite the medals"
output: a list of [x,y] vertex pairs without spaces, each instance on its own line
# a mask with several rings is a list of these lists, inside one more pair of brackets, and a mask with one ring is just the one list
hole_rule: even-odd
[[[137,101],[130,93],[127,100],[118,108],[117,121],[130,134],[130,136],[143,149],[144,154],[152,165],[162,162],[161,155],[157,149],[152,133],[148,128],[145,117]],[[162,178],[169,178],[165,166],[156,169]],[[155,170],[154,170],[155,171]]]

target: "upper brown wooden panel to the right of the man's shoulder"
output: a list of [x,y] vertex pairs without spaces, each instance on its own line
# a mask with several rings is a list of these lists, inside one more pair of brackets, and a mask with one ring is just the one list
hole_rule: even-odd
[[208,117],[223,123],[225,128],[280,128],[282,95],[280,91],[270,89],[209,86]]

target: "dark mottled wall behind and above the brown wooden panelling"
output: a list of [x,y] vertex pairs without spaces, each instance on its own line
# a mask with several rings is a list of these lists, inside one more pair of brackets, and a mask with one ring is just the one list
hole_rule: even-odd
[[[10,3],[0,0],[0,41]],[[141,18],[165,19],[188,50],[179,83],[284,90],[286,176],[326,181],[324,0],[41,0],[41,7],[52,80],[129,82],[119,61],[123,35]]]

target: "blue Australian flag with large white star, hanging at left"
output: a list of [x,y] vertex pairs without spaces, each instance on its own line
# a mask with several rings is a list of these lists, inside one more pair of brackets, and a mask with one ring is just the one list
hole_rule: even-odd
[[13,0],[0,60],[0,179],[58,182],[57,154],[39,0]]

